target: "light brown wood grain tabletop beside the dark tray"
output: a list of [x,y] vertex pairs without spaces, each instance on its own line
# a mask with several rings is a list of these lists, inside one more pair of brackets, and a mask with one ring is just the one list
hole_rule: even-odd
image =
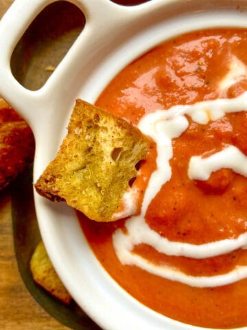
[[[12,2],[0,0],[0,17]],[[0,192],[0,329],[69,329],[49,316],[23,284],[14,254],[9,188]]]

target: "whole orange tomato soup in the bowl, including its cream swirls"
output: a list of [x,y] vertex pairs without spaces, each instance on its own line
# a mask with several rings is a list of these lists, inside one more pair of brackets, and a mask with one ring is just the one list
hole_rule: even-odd
[[137,214],[79,214],[95,256],[160,314],[247,326],[247,31],[190,32],[123,69],[96,104],[152,137]]

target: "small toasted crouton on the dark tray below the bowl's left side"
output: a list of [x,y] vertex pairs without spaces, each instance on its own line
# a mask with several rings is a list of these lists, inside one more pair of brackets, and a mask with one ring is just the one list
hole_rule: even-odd
[[62,284],[60,278],[56,274],[49,256],[45,250],[43,241],[36,246],[30,260],[30,270],[34,281],[43,287],[47,292],[61,300],[65,304],[71,302],[71,295]]

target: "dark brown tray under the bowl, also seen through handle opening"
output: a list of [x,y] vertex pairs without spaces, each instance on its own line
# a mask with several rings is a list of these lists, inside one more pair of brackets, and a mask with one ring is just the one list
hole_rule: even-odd
[[[116,0],[115,2],[134,5],[145,1]],[[40,89],[82,32],[84,23],[84,14],[72,3],[56,1],[48,5],[43,12],[38,14],[12,54],[11,68],[16,80],[27,89]],[[36,302],[62,325],[75,330],[99,330],[95,322],[86,316],[74,301],[69,306],[60,303],[32,280],[30,258],[40,240],[34,209],[32,167],[19,175],[12,183],[11,197],[14,250],[25,287]],[[23,308],[25,309],[25,306]],[[31,329],[25,327],[25,320],[23,324],[23,328],[18,329]],[[48,328],[43,325],[38,329]]]

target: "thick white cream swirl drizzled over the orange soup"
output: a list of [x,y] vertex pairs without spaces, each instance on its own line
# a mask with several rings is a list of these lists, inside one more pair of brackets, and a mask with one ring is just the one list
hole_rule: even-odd
[[[144,115],[139,122],[139,129],[150,135],[156,142],[157,159],[156,170],[152,173],[148,188],[145,191],[141,214],[130,217],[126,221],[127,234],[117,230],[113,234],[115,252],[123,264],[137,265],[143,270],[157,274],[173,281],[180,281],[195,287],[215,287],[239,281],[247,277],[247,266],[237,266],[231,272],[217,276],[189,276],[167,265],[154,265],[150,261],[132,252],[134,245],[146,243],[158,252],[174,256],[187,256],[196,259],[209,258],[226,254],[237,248],[246,248],[247,232],[237,239],[224,239],[200,245],[169,241],[160,236],[145,223],[145,213],[152,199],[156,196],[161,186],[169,181],[172,169],[169,159],[172,158],[172,138],[180,136],[188,126],[185,115],[189,115],[194,122],[207,124],[222,118],[226,113],[247,111],[247,92],[232,99],[217,99],[197,102],[192,105],[178,105],[167,111],[158,110]],[[235,157],[237,162],[235,164]],[[218,164],[220,160],[220,165]],[[234,160],[234,162],[233,162]],[[236,162],[236,163],[237,163]],[[189,176],[191,178],[207,179],[213,170],[227,166],[235,172],[247,176],[246,156],[235,146],[228,146],[220,153],[202,159],[200,156],[191,158]],[[202,166],[201,166],[202,165]]]

